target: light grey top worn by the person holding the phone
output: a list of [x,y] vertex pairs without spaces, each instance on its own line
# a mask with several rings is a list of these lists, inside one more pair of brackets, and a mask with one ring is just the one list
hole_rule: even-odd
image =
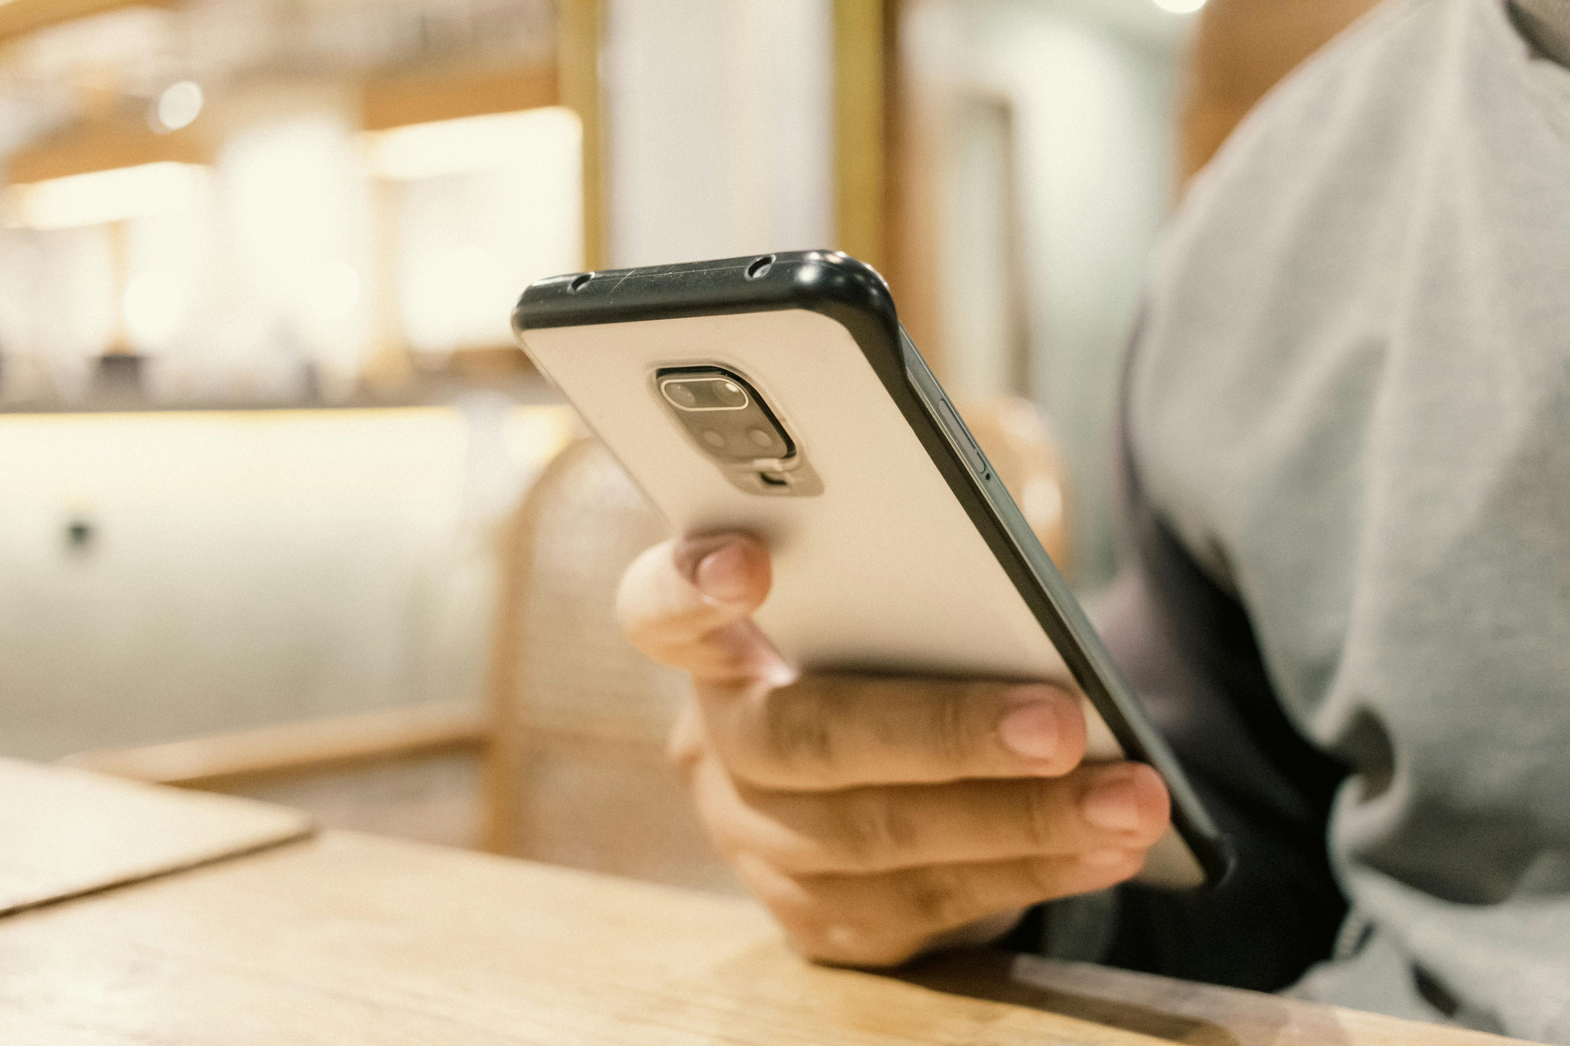
[[1570,1044],[1570,17],[1520,3],[1388,0],[1261,102],[1159,256],[1127,409],[1353,770],[1352,916],[1297,991],[1438,1019],[1429,979]]

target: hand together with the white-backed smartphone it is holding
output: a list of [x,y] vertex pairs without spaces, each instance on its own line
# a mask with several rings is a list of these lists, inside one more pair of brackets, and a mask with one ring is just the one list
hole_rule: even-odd
[[513,328],[691,535],[631,568],[623,619],[692,674],[678,761],[804,950],[895,963],[1135,873],[1225,878],[1225,837],[873,270],[559,276]]

